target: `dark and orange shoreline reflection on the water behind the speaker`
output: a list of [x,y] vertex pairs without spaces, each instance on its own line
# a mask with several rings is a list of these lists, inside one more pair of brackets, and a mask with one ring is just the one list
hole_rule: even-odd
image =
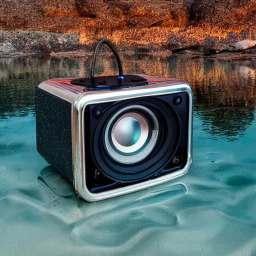
[[[187,80],[194,91],[195,113],[210,137],[237,139],[252,123],[256,106],[256,69],[252,60],[212,60],[187,55],[160,57],[123,55],[127,73]],[[113,57],[98,57],[97,73],[113,74]],[[34,113],[34,87],[53,77],[89,74],[90,56],[69,58],[17,57],[0,59],[0,118]]]

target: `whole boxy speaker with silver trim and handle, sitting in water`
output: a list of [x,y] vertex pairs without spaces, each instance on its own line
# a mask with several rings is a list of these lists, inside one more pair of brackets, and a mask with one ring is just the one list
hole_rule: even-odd
[[[94,77],[102,43],[113,51],[118,75]],[[87,201],[184,175],[192,161],[189,84],[123,74],[107,39],[97,43],[91,66],[91,77],[50,79],[36,87],[37,151]]]

